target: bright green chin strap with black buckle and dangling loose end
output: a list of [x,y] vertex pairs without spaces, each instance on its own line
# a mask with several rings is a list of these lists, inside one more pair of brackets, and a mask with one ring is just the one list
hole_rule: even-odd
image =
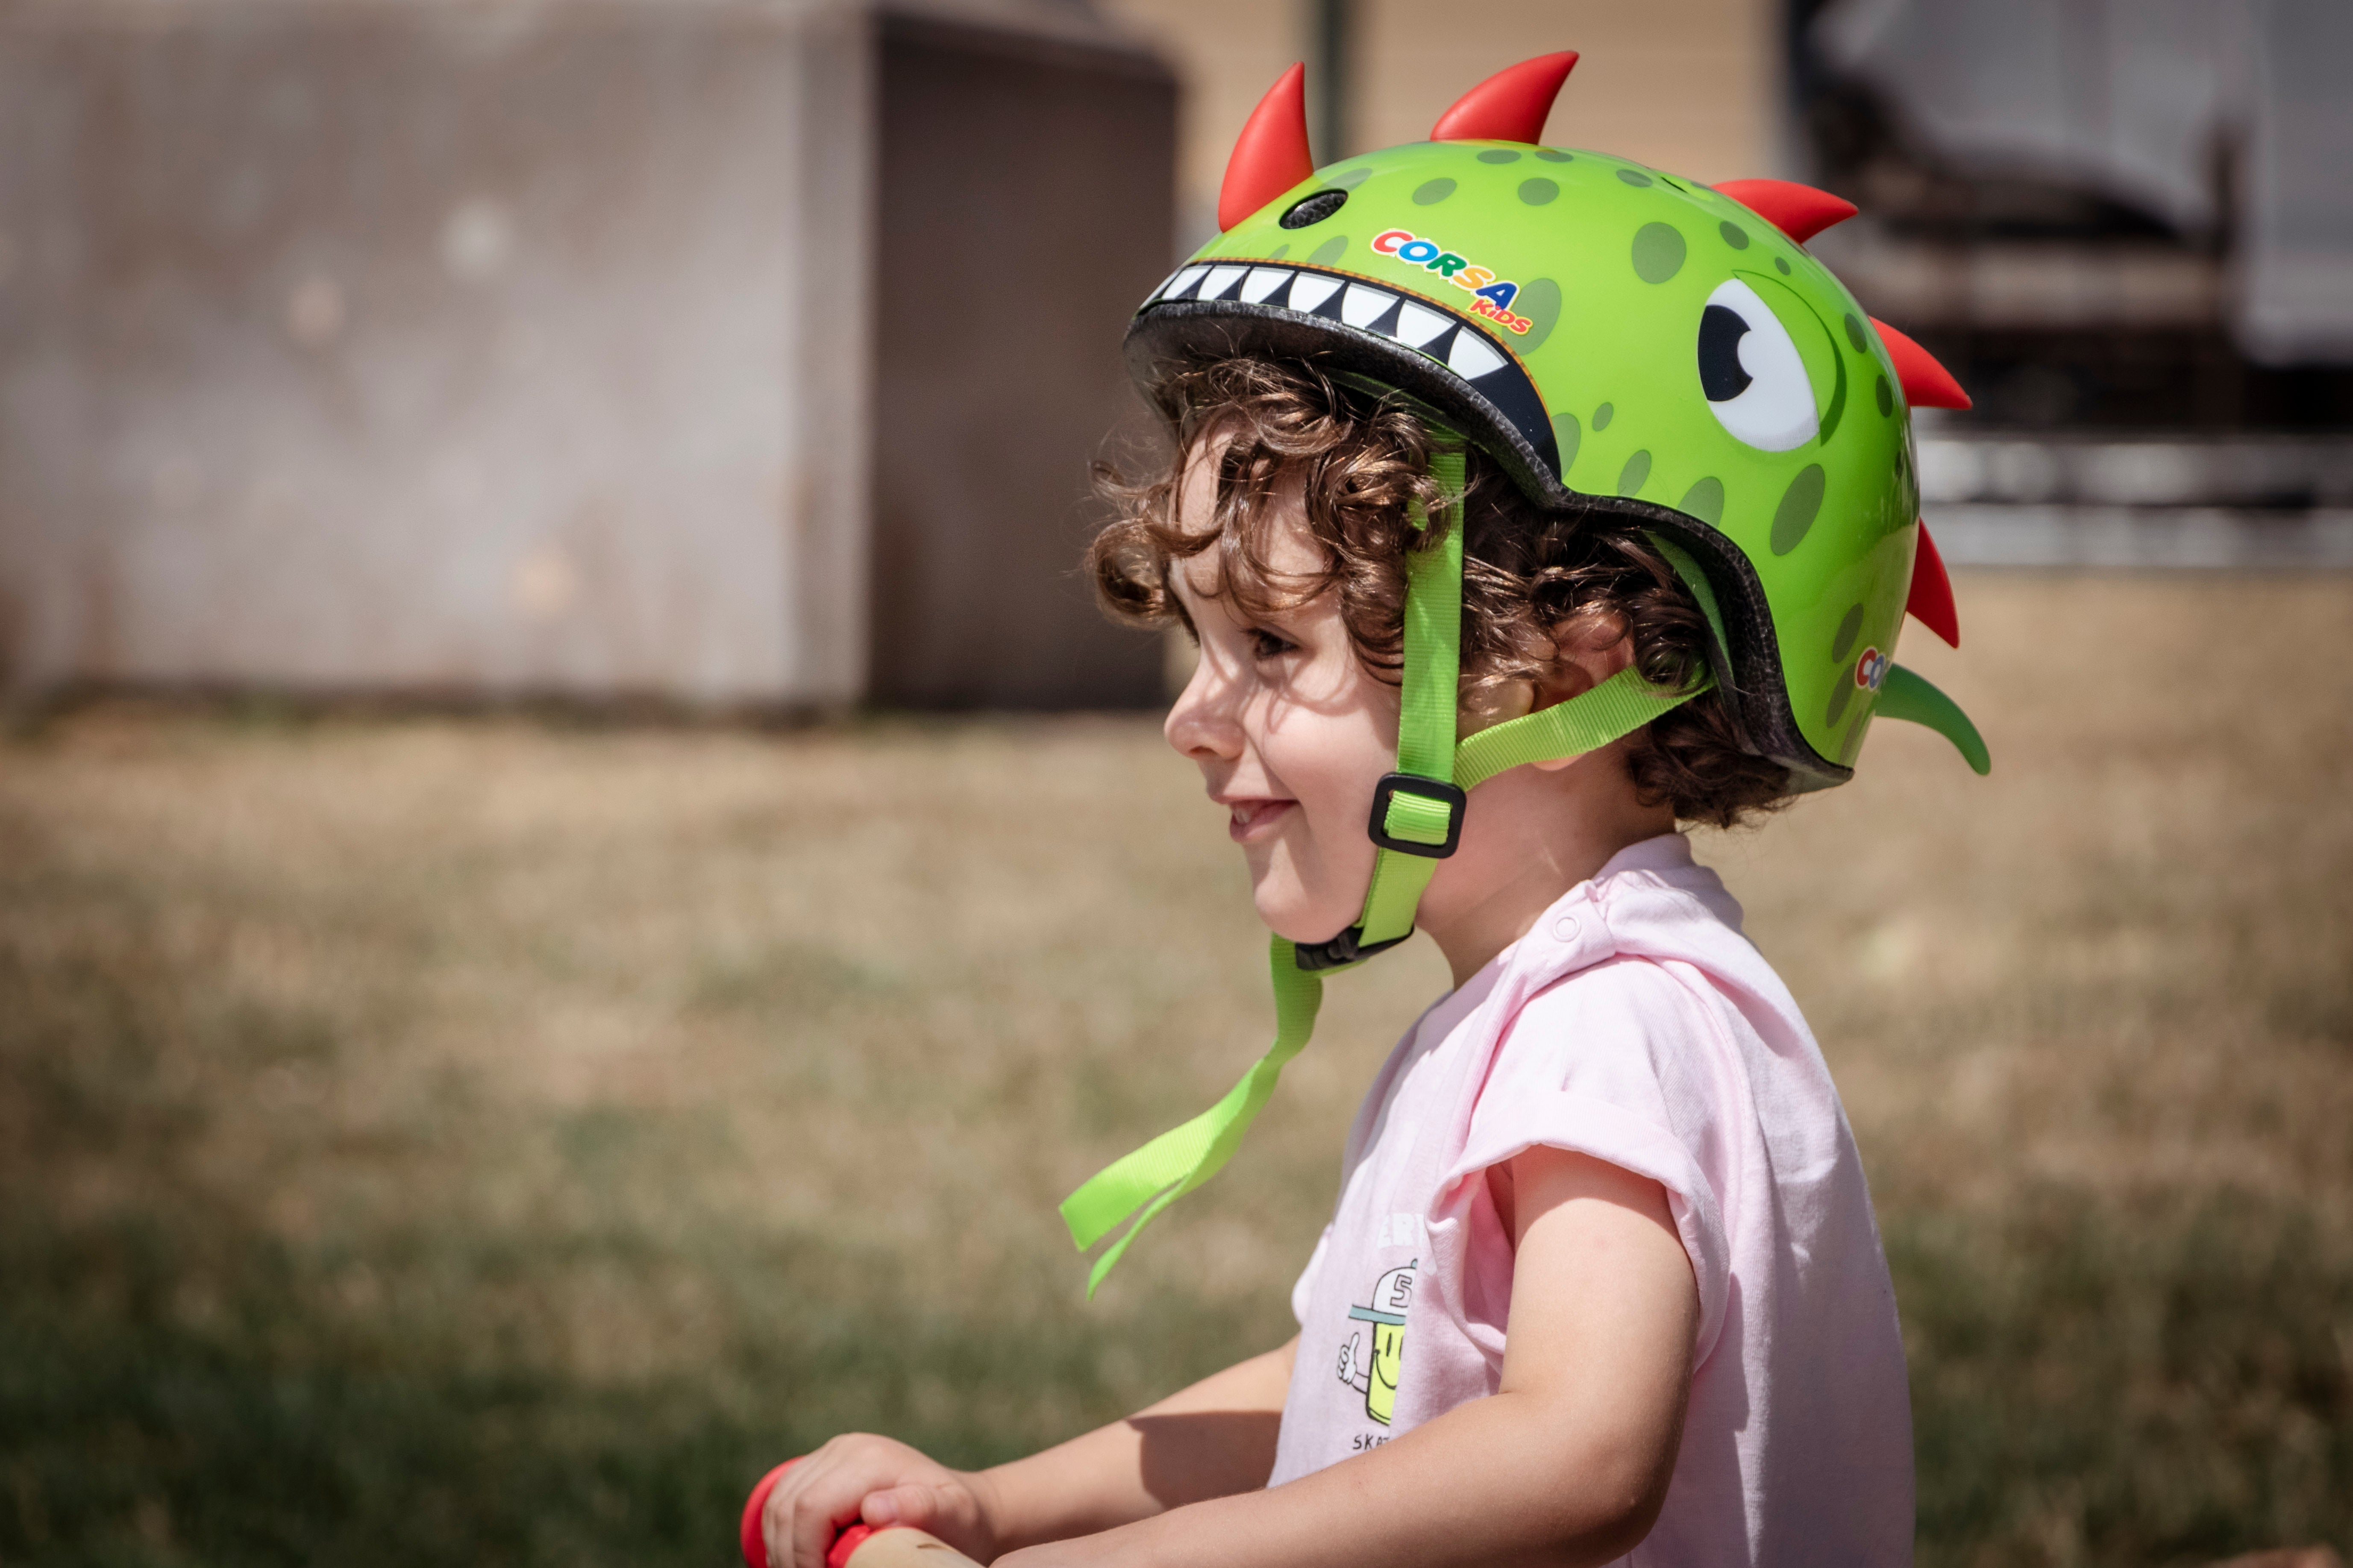
[[[1464,611],[1464,454],[1459,447],[1431,456],[1438,482],[1435,543],[1407,557],[1405,585],[1405,691],[1398,715],[1398,771],[1374,790],[1367,832],[1379,844],[1365,912],[1353,926],[1327,943],[1289,943],[1273,938],[1268,961],[1275,983],[1275,1044],[1252,1063],[1242,1081],[1217,1105],[1184,1126],[1160,1133],[1134,1154],[1096,1171],[1078,1192],[1061,1201],[1071,1241],[1087,1251],[1127,1225],[1087,1274],[1087,1298],[1104,1284],[1153,1218],[1217,1175],[1242,1143],[1266,1098],[1275,1091],[1282,1065],[1308,1044],[1315,1011],[1322,1006],[1322,973],[1353,969],[1377,952],[1395,947],[1414,933],[1414,907],[1421,903],[1438,860],[1454,853],[1461,839],[1466,795],[1522,762],[1584,757],[1673,712],[1713,684],[1701,677],[1687,691],[1652,686],[1635,670],[1619,670],[1602,684],[1567,703],[1555,703],[1508,724],[1485,729],[1468,741],[1454,741],[1454,715],[1461,701],[1461,611]],[[1417,529],[1428,524],[1414,508]],[[1722,623],[1715,595],[1689,555],[1668,541],[1654,541],[1692,588],[1722,646]]]

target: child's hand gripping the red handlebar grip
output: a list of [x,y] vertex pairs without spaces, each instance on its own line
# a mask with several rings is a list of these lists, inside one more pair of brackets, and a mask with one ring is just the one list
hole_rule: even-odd
[[861,1519],[929,1530],[965,1556],[991,1561],[998,1530],[986,1479],[948,1469],[887,1436],[838,1436],[793,1469],[760,1509],[769,1568],[824,1568],[833,1537]]

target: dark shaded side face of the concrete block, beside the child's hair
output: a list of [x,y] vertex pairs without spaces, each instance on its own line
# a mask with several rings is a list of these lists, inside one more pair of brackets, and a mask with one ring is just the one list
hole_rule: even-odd
[[1139,708],[1160,646],[1080,574],[1118,341],[1174,247],[1176,80],[1144,52],[880,24],[871,696]]

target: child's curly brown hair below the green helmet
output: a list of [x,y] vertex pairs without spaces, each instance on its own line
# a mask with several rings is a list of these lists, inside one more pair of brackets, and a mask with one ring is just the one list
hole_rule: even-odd
[[[1129,480],[1096,470],[1115,517],[1087,550],[1104,607],[1132,625],[1184,618],[1169,564],[1217,552],[1219,592],[1245,614],[1278,614],[1337,592],[1341,623],[1365,668],[1395,684],[1405,663],[1407,552],[1440,538],[1407,520],[1435,501],[1433,435],[1395,393],[1360,390],[1313,360],[1228,357],[1188,364],[1158,388],[1174,421],[1165,468]],[[1193,456],[1224,442],[1217,508],[1205,531],[1179,522],[1179,484]],[[1320,571],[1280,574],[1271,548],[1299,487]],[[1473,447],[1464,463],[1464,705],[1473,712],[1508,682],[1544,677],[1565,628],[1633,639],[1645,679],[1682,689],[1708,670],[1708,623],[1642,529],[1607,508],[1548,512]],[[1191,630],[1191,628],[1188,628]],[[1628,736],[1626,771],[1642,804],[1673,804],[1678,820],[1734,823],[1791,799],[1791,773],[1744,743],[1720,689]]]

